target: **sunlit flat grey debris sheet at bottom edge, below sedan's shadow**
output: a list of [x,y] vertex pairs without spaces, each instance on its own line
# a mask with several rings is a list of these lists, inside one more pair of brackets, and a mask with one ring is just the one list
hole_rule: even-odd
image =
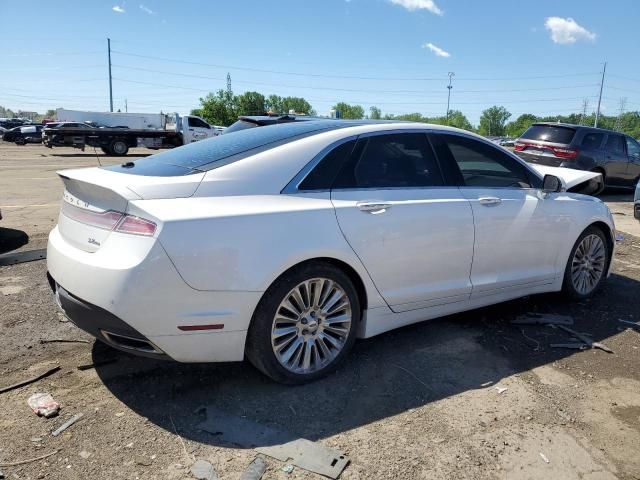
[[256,451],[329,478],[338,478],[349,464],[349,458],[343,452],[304,438],[283,445],[256,448]]

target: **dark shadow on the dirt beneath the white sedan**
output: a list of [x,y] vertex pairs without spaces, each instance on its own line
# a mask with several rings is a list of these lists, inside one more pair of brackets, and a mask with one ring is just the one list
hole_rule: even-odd
[[[612,275],[591,300],[572,303],[559,294],[537,295],[444,319],[412,325],[356,343],[341,368],[303,386],[276,384],[249,363],[193,365],[115,352],[96,342],[97,369],[120,401],[169,432],[211,445],[220,435],[198,429],[202,406],[318,440],[422,407],[575,353],[551,348],[565,332],[510,323],[527,312],[571,315],[574,329],[606,342],[629,317],[640,282]],[[632,309],[633,310],[633,309]],[[598,355],[610,355],[603,351]],[[485,387],[483,387],[483,384]],[[256,446],[261,442],[256,441]],[[267,443],[267,442],[263,442]],[[240,445],[241,447],[244,445]]]

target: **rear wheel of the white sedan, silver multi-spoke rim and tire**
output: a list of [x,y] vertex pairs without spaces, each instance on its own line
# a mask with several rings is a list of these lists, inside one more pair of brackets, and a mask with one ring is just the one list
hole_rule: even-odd
[[[312,307],[294,305],[295,298],[302,307],[305,302]],[[283,307],[287,300],[291,310]],[[348,354],[360,315],[358,294],[342,270],[324,262],[302,264],[285,272],[263,295],[247,334],[246,355],[276,382],[317,380],[334,371]],[[274,332],[276,325],[279,334]]]

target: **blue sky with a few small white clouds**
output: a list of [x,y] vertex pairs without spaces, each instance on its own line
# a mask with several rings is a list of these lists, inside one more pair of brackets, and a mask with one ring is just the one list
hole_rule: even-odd
[[[144,3],[140,3],[140,2]],[[0,105],[189,113],[226,88],[477,124],[640,110],[638,0],[0,0]]]

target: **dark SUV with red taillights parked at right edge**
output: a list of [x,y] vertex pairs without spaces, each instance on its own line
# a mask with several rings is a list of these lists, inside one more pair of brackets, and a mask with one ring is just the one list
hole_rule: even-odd
[[515,143],[525,161],[600,172],[607,187],[635,188],[640,144],[622,133],[566,123],[534,123]]

